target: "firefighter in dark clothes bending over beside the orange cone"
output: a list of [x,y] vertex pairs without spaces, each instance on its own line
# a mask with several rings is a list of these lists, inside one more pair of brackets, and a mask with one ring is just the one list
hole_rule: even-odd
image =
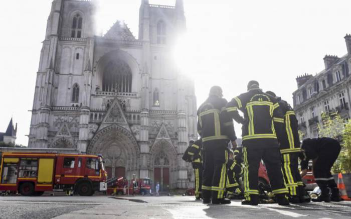
[[[321,194],[312,201],[339,201],[339,189],[331,175],[330,169],[340,152],[340,144],[329,137],[306,138],[301,146],[301,177],[306,175],[308,161],[313,160],[312,170]],[[331,196],[329,196],[329,189]]]

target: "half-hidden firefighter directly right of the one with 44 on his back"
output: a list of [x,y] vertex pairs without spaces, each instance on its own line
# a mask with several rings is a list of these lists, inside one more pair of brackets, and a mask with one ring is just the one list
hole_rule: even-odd
[[297,119],[294,110],[285,100],[277,97],[272,91],[267,94],[275,97],[284,115],[284,127],[279,140],[280,153],[282,156],[282,170],[286,186],[289,189],[289,200],[291,203],[309,202],[305,198],[305,188],[298,170],[298,157],[301,151],[300,138],[298,135]]

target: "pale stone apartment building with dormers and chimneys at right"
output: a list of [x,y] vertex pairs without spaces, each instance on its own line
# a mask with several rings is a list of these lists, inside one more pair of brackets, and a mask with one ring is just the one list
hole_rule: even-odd
[[350,118],[351,35],[346,34],[344,39],[347,54],[342,57],[325,55],[325,68],[321,72],[296,78],[294,110],[305,137],[318,136],[317,124],[322,112],[337,112],[342,118]]

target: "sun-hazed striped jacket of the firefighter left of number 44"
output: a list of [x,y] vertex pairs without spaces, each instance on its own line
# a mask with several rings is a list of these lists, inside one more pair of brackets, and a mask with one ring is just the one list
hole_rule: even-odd
[[202,142],[219,139],[235,140],[233,119],[225,110],[227,100],[210,95],[198,109],[198,132]]

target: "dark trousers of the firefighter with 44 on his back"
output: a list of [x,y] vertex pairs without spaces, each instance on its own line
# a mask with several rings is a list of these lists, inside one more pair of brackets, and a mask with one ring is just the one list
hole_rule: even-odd
[[245,199],[251,200],[252,196],[258,196],[258,168],[263,160],[271,183],[273,194],[285,194],[286,188],[281,170],[281,157],[278,147],[258,148],[244,146],[244,192]]

